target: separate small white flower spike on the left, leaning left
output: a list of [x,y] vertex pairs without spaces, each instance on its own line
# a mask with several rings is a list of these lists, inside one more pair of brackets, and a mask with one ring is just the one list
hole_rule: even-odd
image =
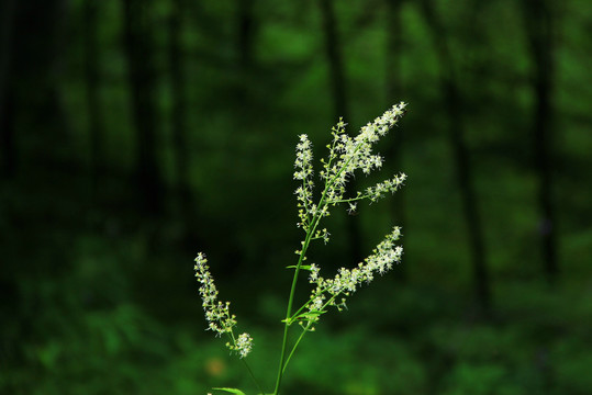
[[236,316],[230,313],[230,302],[220,302],[217,300],[217,290],[214,284],[214,279],[210,273],[210,267],[206,264],[205,255],[200,252],[196,258],[196,278],[201,284],[200,295],[203,301],[202,306],[208,320],[208,329],[216,332],[217,336],[228,335],[232,342],[226,346],[241,354],[241,358],[246,357],[253,345],[253,338],[248,334],[234,338],[233,327],[236,325]]

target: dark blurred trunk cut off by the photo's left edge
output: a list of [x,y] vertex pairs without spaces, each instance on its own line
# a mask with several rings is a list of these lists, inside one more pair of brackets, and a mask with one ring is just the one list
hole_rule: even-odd
[[2,163],[0,173],[11,178],[15,169],[14,150],[14,83],[12,71],[12,37],[15,0],[5,0],[0,4],[0,146]]

